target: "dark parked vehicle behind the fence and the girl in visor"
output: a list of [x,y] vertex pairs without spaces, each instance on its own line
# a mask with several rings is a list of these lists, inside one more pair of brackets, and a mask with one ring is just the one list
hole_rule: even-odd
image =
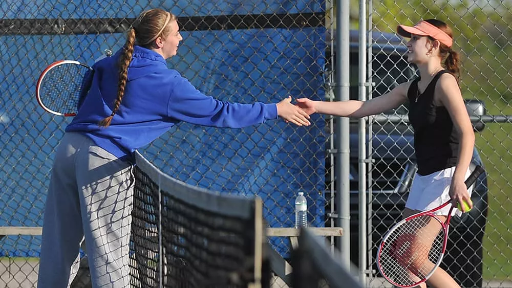
[[[401,38],[391,33],[372,33],[372,97],[378,97],[399,83],[416,76],[416,69],[407,62],[407,48]],[[327,51],[329,59],[330,52]],[[335,57],[334,57],[335,58]],[[329,67],[329,65],[327,66]],[[333,67],[333,65],[332,65]],[[328,68],[327,68],[328,69]],[[350,32],[350,98],[358,99],[358,33]],[[470,115],[484,115],[484,103],[468,99],[466,108]],[[386,114],[407,115],[407,105],[402,105]],[[358,124],[350,122],[350,255],[351,261],[359,262],[359,199],[358,199]],[[328,125],[329,126],[329,125]],[[476,132],[484,129],[483,123],[474,124]],[[375,256],[383,235],[401,218],[409,188],[417,170],[414,154],[414,132],[406,122],[374,123],[371,137],[373,163],[368,172],[372,174],[371,189],[371,259],[372,270],[378,273]],[[330,167],[327,157],[326,167]],[[335,162],[334,162],[335,163]],[[472,167],[482,165],[480,154],[475,148]],[[330,171],[327,171],[329,173]],[[328,178],[329,179],[329,175]],[[441,267],[462,286],[482,285],[482,238],[487,219],[487,175],[483,173],[477,180],[472,201],[474,209],[451,221],[449,247]],[[330,211],[330,207],[326,208]],[[335,211],[336,208],[335,208]],[[371,233],[370,233],[371,231]],[[377,275],[379,276],[379,275]]]

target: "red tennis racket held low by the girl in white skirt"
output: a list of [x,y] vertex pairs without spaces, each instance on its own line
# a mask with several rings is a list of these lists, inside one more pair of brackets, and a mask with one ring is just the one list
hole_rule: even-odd
[[[473,185],[483,171],[481,166],[477,166],[466,179],[466,187]],[[432,210],[411,215],[386,233],[377,253],[377,267],[391,284],[398,287],[417,286],[429,279],[439,267],[455,205],[451,206],[444,223],[434,212],[451,203],[448,201]]]

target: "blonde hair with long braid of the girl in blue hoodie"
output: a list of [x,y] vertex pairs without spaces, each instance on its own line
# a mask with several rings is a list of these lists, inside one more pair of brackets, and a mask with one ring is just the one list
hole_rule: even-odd
[[135,45],[150,47],[153,41],[159,36],[166,36],[170,32],[170,21],[177,20],[177,17],[162,9],[151,9],[142,12],[135,20],[132,28],[126,36],[126,43],[123,47],[123,53],[119,57],[119,81],[117,83],[117,98],[109,117],[101,120],[98,125],[102,127],[110,126],[112,118],[117,113],[124,96],[126,81],[128,80],[128,65],[132,61],[133,49]]

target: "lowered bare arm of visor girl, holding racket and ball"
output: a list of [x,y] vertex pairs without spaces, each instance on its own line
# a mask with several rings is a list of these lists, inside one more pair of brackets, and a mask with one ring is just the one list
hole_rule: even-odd
[[[459,85],[453,75],[441,75],[436,85],[436,94],[439,96],[438,100],[450,113],[454,127],[460,135],[459,157],[451,185],[451,193],[453,193],[452,199],[457,200],[457,202],[461,202],[462,200],[468,201],[469,195],[467,194],[467,189],[464,184],[464,178],[470,166],[471,158],[473,157],[475,132],[471,125],[470,116],[467,114]],[[470,205],[470,207],[472,206],[473,205]]]

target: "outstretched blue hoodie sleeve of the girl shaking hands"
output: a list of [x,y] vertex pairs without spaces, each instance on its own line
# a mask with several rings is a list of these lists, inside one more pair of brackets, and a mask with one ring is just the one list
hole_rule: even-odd
[[230,103],[206,96],[187,79],[177,77],[169,97],[167,115],[191,124],[241,128],[278,118],[276,104]]

